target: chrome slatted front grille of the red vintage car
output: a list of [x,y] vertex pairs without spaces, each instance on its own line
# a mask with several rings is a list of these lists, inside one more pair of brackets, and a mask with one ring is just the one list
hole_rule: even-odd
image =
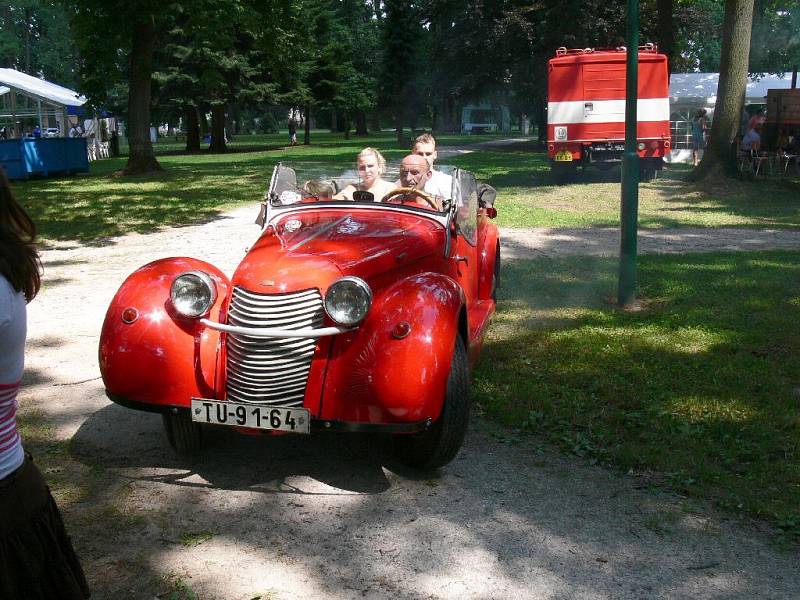
[[[259,294],[233,289],[228,324],[306,329],[322,326],[319,290]],[[228,334],[228,399],[269,406],[303,404],[314,338],[257,338]]]

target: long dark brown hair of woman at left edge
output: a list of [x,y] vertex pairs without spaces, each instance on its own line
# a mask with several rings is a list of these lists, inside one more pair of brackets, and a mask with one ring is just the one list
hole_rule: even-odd
[[41,261],[36,251],[36,225],[14,199],[0,168],[0,273],[30,302],[41,286]]

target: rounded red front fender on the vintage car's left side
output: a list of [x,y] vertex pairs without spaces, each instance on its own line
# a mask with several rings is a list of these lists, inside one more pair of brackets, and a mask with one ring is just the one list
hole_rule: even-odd
[[[189,406],[192,396],[214,398],[220,334],[176,313],[170,287],[186,271],[208,273],[217,298],[207,315],[217,320],[230,295],[228,278],[192,258],[157,260],[131,274],[117,291],[100,334],[100,373],[106,392],[139,408]],[[132,308],[123,320],[123,312]]]

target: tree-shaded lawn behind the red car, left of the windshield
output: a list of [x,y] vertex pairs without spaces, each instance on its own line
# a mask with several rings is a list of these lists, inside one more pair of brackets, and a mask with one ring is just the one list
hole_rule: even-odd
[[[117,176],[126,159],[116,158],[91,163],[88,175],[16,182],[13,189],[43,240],[93,242],[199,222],[226,208],[257,202],[278,161],[326,162],[344,169],[366,145],[379,147],[387,160],[399,160],[408,151],[390,133],[344,140],[342,135],[314,132],[313,145],[294,148],[278,145],[285,143],[284,137],[239,136],[226,154],[160,154],[164,170],[144,176]],[[487,137],[463,139],[474,143]],[[157,149],[170,152],[178,146]]]

